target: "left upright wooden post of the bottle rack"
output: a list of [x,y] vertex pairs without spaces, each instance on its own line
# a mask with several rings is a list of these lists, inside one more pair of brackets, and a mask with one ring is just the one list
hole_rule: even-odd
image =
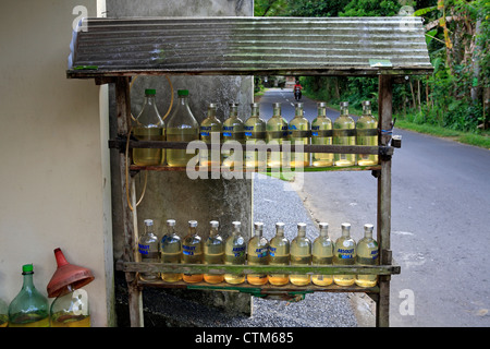
[[[118,77],[115,81],[115,110],[118,118],[118,134],[126,136],[131,128],[130,79]],[[131,176],[126,178],[126,156],[120,153],[119,168],[121,174],[122,219],[124,233],[124,262],[138,262],[137,253],[137,217],[135,182]],[[130,158],[127,158],[130,161]],[[127,179],[127,180],[126,180]],[[130,193],[130,198],[126,196]],[[133,210],[130,208],[133,207]],[[137,273],[125,273],[128,292],[130,318],[132,327],[143,327],[142,290],[137,287]]]

